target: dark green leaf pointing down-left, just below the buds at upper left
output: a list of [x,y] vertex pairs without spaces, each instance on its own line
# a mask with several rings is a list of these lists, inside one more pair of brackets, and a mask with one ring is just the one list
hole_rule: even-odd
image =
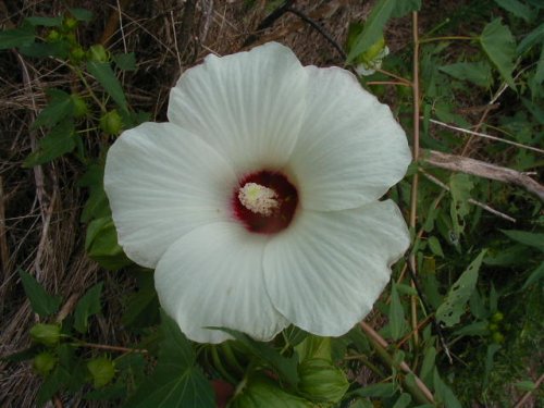
[[48,163],[51,160],[72,152],[75,146],[74,122],[61,122],[39,140],[38,150],[28,154],[23,163],[23,166],[28,169],[35,165]]

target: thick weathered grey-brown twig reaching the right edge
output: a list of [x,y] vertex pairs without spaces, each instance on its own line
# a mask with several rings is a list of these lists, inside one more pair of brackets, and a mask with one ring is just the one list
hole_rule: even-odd
[[527,174],[516,170],[490,164],[481,160],[443,153],[441,151],[428,150],[423,160],[436,168],[447,169],[455,172],[472,174],[483,178],[495,180],[523,187],[536,195],[544,201],[544,186],[532,180]]

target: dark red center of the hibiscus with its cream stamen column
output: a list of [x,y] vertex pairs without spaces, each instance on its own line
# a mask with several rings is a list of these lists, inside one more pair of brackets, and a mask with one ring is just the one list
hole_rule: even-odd
[[274,234],[295,215],[298,193],[280,172],[263,170],[246,175],[233,193],[234,215],[248,231]]

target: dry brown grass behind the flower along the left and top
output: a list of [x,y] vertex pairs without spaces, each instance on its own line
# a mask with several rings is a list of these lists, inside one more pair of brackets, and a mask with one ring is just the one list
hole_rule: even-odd
[[[53,16],[63,12],[63,1],[0,1],[0,26],[13,27],[25,16]],[[128,100],[136,110],[165,119],[168,94],[180,73],[214,52],[240,50],[247,37],[270,12],[265,1],[196,2],[157,0],[153,2],[90,0],[69,1],[91,10],[95,20],[79,28],[79,41],[91,46],[99,40],[116,52],[136,51],[138,70],[122,77]],[[121,18],[118,4],[123,4]],[[321,23],[341,45],[348,23],[370,10],[357,0],[298,1],[297,8]],[[103,5],[106,4],[106,5]],[[399,29],[401,35],[403,30]],[[343,61],[334,48],[314,29],[294,15],[284,15],[259,33],[257,42],[280,40],[290,46],[304,64],[333,65]],[[398,39],[398,47],[403,40]],[[63,299],[77,298],[98,281],[107,281],[104,310],[121,310],[122,295],[133,280],[108,273],[89,260],[84,251],[85,226],[79,222],[85,191],[76,182],[83,166],[71,158],[27,170],[23,160],[42,137],[30,124],[45,107],[45,91],[51,87],[70,88],[74,78],[61,62],[26,59],[15,51],[2,51],[0,60],[0,355],[29,345],[28,330],[39,321],[29,308],[18,281],[17,270],[28,271],[50,292]],[[95,135],[97,140],[101,137]],[[89,151],[97,151],[88,139]],[[96,343],[123,345],[129,339],[120,324],[120,313],[99,318],[92,327]],[[30,407],[40,380],[27,363],[0,363],[0,406]],[[62,406],[58,400],[57,405]],[[100,404],[85,403],[85,406]],[[71,400],[70,406],[83,406]]]

